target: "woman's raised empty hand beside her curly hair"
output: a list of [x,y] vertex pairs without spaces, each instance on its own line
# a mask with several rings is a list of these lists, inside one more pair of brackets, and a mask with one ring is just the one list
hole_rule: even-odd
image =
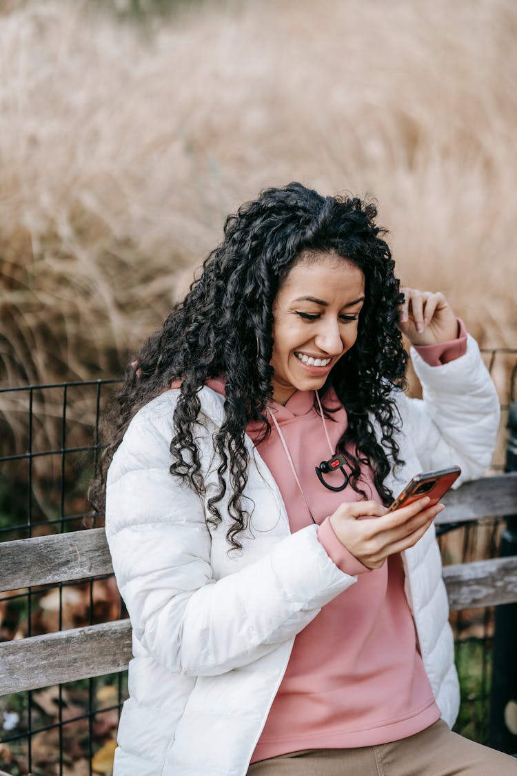
[[441,291],[400,290],[404,302],[398,308],[398,327],[412,345],[437,345],[457,338],[457,317]]

